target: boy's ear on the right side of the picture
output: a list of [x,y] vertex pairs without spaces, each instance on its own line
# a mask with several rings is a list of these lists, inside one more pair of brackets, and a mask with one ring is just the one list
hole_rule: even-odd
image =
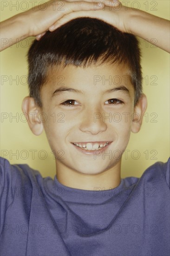
[[145,94],[142,94],[134,108],[133,120],[132,120],[132,126],[131,126],[131,131],[133,133],[137,133],[140,130],[146,108],[147,108],[147,98]]

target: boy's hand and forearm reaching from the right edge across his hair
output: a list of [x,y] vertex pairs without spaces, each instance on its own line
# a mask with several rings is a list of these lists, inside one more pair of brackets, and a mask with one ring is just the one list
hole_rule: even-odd
[[99,3],[103,2],[105,4],[103,8],[98,6],[99,8],[96,10],[81,10],[65,14],[53,26],[49,27],[49,30],[53,31],[69,20],[78,17],[97,18],[113,27],[117,27],[124,33],[137,35],[144,40],[147,38],[151,43],[153,38],[157,38],[157,47],[170,52],[169,20],[164,20],[138,9],[124,7],[119,1],[99,1]]

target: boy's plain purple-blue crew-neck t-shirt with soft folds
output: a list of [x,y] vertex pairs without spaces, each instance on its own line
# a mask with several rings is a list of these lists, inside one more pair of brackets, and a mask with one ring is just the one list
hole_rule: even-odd
[[170,159],[115,189],[72,189],[0,158],[1,256],[170,256]]

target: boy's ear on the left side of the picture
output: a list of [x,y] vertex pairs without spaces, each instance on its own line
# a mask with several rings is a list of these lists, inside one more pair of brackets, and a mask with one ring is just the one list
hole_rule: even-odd
[[34,135],[40,135],[43,132],[43,124],[38,118],[39,108],[32,97],[26,97],[22,101],[22,111],[26,116],[29,128]]

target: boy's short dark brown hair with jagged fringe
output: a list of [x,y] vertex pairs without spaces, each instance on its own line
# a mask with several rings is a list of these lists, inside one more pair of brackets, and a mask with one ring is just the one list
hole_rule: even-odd
[[39,40],[28,52],[29,95],[42,107],[40,90],[49,68],[63,65],[89,67],[91,64],[125,64],[135,90],[134,105],[142,93],[140,49],[137,38],[96,18],[76,18]]

